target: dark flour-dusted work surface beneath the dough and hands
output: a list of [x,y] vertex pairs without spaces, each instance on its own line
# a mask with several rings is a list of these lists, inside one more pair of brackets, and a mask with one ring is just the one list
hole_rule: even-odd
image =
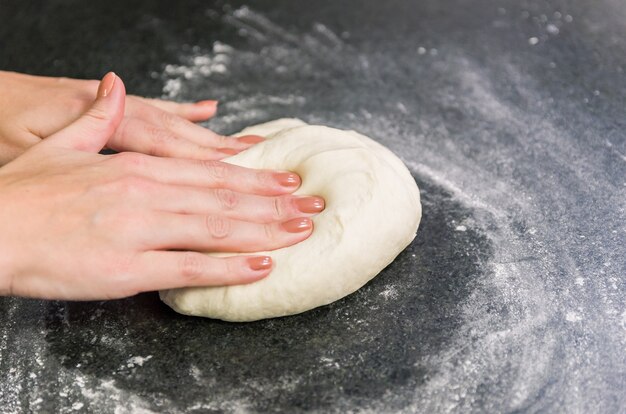
[[0,299],[0,411],[624,412],[626,3],[132,3],[0,0],[0,69],[218,98],[224,133],[355,129],[405,161],[423,221],[287,318]]

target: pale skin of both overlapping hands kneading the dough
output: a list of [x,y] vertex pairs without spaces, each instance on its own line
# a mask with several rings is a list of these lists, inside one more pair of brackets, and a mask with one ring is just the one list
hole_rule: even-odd
[[91,300],[251,283],[273,266],[253,252],[306,239],[324,208],[292,195],[294,173],[220,162],[263,139],[190,122],[212,116],[211,101],[127,96],[113,73],[94,83],[0,72],[0,89],[0,294]]

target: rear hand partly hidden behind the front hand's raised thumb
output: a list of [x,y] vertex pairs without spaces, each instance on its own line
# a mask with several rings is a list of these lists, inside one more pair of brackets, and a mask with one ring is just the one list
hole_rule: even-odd
[[[93,103],[98,84],[0,71],[0,165],[78,119]],[[115,151],[219,160],[263,140],[224,137],[194,124],[215,114],[216,101],[127,96],[125,104],[124,118],[107,143]]]

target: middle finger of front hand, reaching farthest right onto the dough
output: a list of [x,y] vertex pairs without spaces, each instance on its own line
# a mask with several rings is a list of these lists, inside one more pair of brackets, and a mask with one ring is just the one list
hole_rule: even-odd
[[226,218],[255,223],[286,221],[312,216],[324,210],[324,199],[316,196],[264,197],[227,189],[203,189],[163,185],[151,203],[162,211],[178,214],[220,214]]

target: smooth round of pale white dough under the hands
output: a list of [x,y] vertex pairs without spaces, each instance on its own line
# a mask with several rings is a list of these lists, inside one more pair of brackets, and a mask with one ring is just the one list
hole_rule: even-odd
[[246,128],[265,142],[226,162],[300,175],[296,194],[319,195],[326,209],[307,240],[272,256],[268,277],[248,285],[160,292],[175,311],[225,321],[292,315],[349,295],[413,240],[421,218],[415,180],[391,151],[353,131],[279,119]]

